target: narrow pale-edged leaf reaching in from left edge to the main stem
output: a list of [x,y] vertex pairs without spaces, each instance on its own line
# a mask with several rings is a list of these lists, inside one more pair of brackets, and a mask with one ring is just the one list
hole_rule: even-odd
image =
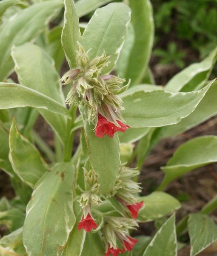
[[20,84],[0,83],[0,109],[33,107],[70,116],[54,99]]

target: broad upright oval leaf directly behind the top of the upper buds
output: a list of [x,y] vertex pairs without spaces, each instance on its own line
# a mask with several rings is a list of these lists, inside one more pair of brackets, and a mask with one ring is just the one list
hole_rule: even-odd
[[82,45],[86,51],[91,49],[90,59],[102,55],[103,50],[111,55],[103,73],[109,73],[119,57],[130,17],[131,10],[126,4],[110,3],[96,10],[83,33]]

